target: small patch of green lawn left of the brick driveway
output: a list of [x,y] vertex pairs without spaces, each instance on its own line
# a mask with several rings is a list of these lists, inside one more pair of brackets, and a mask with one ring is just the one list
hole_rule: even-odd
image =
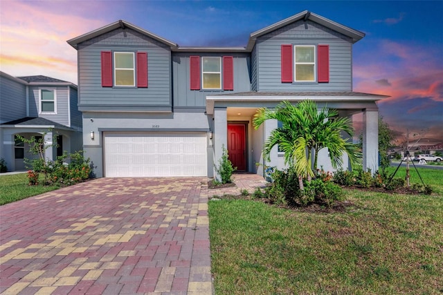
[[[42,175],[40,175],[42,176]],[[46,191],[59,189],[58,186],[28,185],[26,173],[0,175],[0,205],[36,196]]]

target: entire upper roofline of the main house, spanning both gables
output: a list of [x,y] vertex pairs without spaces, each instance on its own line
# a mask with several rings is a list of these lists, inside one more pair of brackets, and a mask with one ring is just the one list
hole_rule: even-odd
[[340,32],[341,34],[350,37],[352,39],[352,43],[355,43],[356,41],[359,41],[361,38],[365,37],[365,33],[360,32],[359,30],[354,30],[352,28],[349,28],[347,26],[343,26],[341,23],[336,23],[335,21],[331,21],[330,19],[326,19],[325,17],[321,17],[320,15],[316,15],[313,12],[310,12],[308,10],[302,11],[296,15],[293,15],[292,17],[288,17],[287,19],[283,19],[282,21],[278,21],[277,23],[273,23],[271,26],[267,26],[266,28],[262,28],[261,30],[257,30],[253,32],[248,39],[248,44],[246,47],[205,47],[205,46],[192,46],[192,47],[180,47],[178,44],[175,44],[172,41],[168,41],[167,39],[164,39],[162,37],[159,37],[152,32],[149,32],[147,30],[143,30],[142,28],[138,28],[137,26],[134,26],[132,23],[128,23],[127,21],[119,20],[114,23],[111,23],[107,26],[104,26],[102,28],[98,28],[97,30],[93,30],[92,32],[88,32],[84,35],[81,35],[79,37],[75,37],[71,40],[68,40],[68,44],[73,46],[73,48],[77,49],[77,45],[87,41],[89,39],[92,39],[94,37],[98,37],[102,34],[105,34],[107,32],[111,32],[112,30],[116,30],[118,28],[130,28],[132,30],[135,30],[137,32],[140,32],[143,35],[146,35],[147,37],[151,37],[152,39],[156,39],[157,41],[160,41],[163,44],[166,44],[170,46],[172,51],[180,51],[180,52],[217,52],[217,53],[239,53],[239,52],[246,52],[250,53],[251,50],[253,50],[253,47],[255,45],[255,41],[258,37],[263,36],[269,32],[272,32],[274,30],[278,30],[279,28],[282,28],[283,26],[287,26],[290,23],[293,23],[295,21],[299,21],[300,19],[303,19],[307,21],[308,19],[310,21],[314,21],[316,23],[319,23],[322,26],[325,26],[327,28],[330,28],[331,30],[335,30],[336,32]]

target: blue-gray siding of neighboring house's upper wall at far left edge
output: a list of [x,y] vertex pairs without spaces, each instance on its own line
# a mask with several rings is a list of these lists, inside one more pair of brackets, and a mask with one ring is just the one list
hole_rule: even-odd
[[0,124],[26,117],[26,85],[0,76]]

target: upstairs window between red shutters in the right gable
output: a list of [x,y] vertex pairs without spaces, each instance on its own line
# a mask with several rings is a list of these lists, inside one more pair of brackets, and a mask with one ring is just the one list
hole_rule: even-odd
[[316,46],[293,46],[296,82],[316,81]]

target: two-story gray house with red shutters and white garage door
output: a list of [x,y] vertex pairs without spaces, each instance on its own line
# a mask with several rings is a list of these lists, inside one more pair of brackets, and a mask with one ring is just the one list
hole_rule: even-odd
[[312,99],[363,113],[363,168],[375,171],[375,102],[386,96],[352,91],[352,44],[363,37],[308,11],[253,32],[246,47],[181,47],[121,20],[75,37],[83,149],[98,177],[213,177],[223,147],[238,171],[262,174],[284,165],[277,147],[263,158],[278,122],[255,130],[255,111]]

